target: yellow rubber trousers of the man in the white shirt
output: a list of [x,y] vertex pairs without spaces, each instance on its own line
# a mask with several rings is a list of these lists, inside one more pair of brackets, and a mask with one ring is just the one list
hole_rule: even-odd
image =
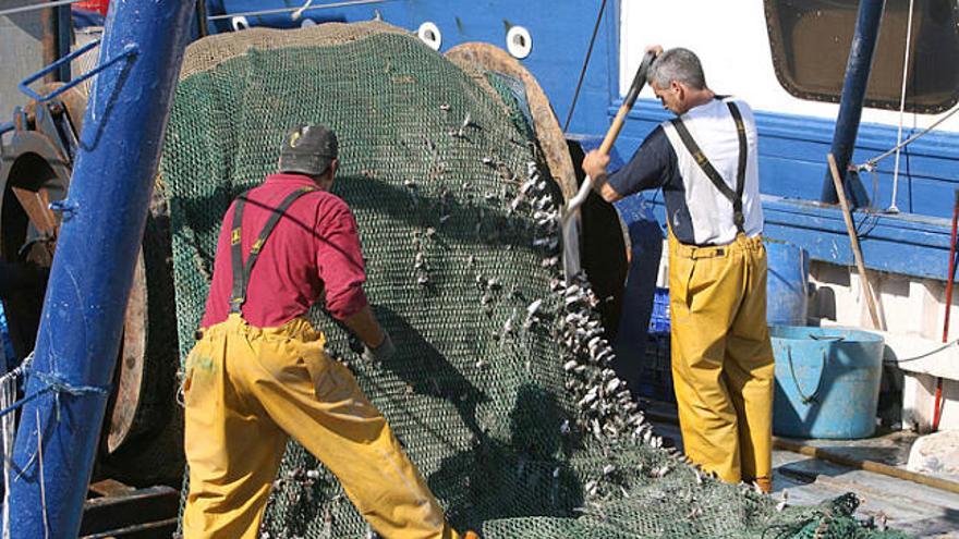
[[669,234],[672,384],[687,455],[772,489],[773,348],[761,237],[691,247]]

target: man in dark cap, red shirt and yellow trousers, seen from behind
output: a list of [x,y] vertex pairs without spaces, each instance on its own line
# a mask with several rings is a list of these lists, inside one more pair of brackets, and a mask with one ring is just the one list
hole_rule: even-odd
[[256,537],[289,437],[339,478],[381,536],[460,537],[386,419],[304,318],[325,299],[365,344],[365,359],[394,353],[363,293],[356,220],[329,193],[337,166],[336,135],[298,126],[283,142],[280,173],[223,218],[183,382],[185,539]]

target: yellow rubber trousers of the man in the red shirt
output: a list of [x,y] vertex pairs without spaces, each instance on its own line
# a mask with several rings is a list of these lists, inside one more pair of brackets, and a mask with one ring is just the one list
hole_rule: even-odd
[[390,539],[457,539],[423,477],[309,322],[205,331],[186,360],[185,539],[254,538],[288,434],[319,458]]

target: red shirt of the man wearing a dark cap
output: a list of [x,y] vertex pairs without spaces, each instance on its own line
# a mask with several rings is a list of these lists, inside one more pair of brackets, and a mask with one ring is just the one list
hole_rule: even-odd
[[[313,185],[308,176],[274,174],[250,192],[242,223],[244,264],[271,209],[294,189]],[[231,205],[223,216],[206,315],[201,323],[204,328],[226,320],[230,314],[234,208]],[[250,275],[243,318],[259,328],[281,326],[306,313],[325,295],[327,310],[343,319],[366,305],[365,281],[356,220],[347,203],[324,191],[307,193],[290,206],[267,238]]]

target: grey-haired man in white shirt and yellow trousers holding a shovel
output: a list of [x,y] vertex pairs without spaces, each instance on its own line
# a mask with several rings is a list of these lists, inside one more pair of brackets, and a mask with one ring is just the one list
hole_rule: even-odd
[[770,491],[773,348],[752,109],[706,86],[700,59],[656,53],[647,81],[677,118],[611,174],[583,171],[607,201],[663,188],[669,225],[672,380],[685,453],[729,482]]

